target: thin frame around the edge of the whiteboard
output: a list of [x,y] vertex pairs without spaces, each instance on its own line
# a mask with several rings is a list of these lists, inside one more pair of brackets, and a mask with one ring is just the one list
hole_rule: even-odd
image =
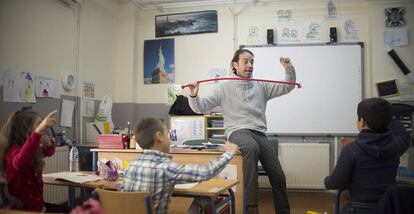
[[[297,44],[265,44],[265,45],[240,45],[239,49],[248,48],[265,48],[265,47],[306,47],[306,46],[360,46],[361,51],[361,100],[365,99],[365,58],[364,58],[364,43],[352,42],[352,43],[297,43]],[[269,136],[355,136],[356,133],[268,133]]]

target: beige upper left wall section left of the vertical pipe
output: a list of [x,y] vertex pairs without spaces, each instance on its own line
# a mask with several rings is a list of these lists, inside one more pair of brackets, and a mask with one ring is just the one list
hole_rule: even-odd
[[74,17],[59,1],[0,1],[0,68],[57,79],[74,74]]

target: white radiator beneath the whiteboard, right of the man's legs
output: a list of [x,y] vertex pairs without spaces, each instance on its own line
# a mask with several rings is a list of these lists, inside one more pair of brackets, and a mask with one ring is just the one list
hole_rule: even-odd
[[[329,144],[279,143],[279,160],[290,189],[325,189],[329,175]],[[259,187],[270,188],[267,176],[259,176]]]

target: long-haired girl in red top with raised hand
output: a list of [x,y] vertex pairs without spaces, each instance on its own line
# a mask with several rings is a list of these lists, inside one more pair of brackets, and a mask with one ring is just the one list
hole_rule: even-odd
[[55,153],[55,141],[46,130],[56,123],[56,110],[44,119],[32,110],[10,115],[1,129],[5,145],[0,152],[1,175],[10,196],[21,202],[18,209],[44,211],[42,170],[44,157]]

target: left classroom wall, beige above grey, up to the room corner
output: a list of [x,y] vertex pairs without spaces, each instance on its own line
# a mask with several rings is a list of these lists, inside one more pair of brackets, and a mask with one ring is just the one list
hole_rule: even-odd
[[[119,87],[119,91],[115,88],[120,79],[117,70],[128,70],[128,66],[133,64],[128,63],[133,57],[128,56],[127,49],[133,49],[134,34],[133,31],[128,33],[129,26],[124,21],[129,16],[134,21],[134,16],[127,13],[131,8],[135,10],[132,5],[123,6],[113,0],[83,1],[81,15],[77,19],[75,10],[60,0],[0,1],[0,86],[4,70],[12,69],[58,80],[64,74],[72,74],[78,83],[94,82],[98,101],[106,94],[114,97],[117,92],[131,91],[130,88]],[[127,40],[128,37],[132,39]],[[132,73],[132,68],[129,70]],[[131,87],[132,80],[129,82],[123,85]],[[75,89],[71,92],[61,88],[61,99],[76,101],[75,116],[80,114],[81,86],[77,88],[80,91]],[[36,110],[44,109],[44,106],[60,110],[61,101],[44,98],[37,99],[36,104],[22,104],[5,103],[1,99],[0,124],[11,112],[28,105]],[[45,114],[44,111],[41,113]],[[82,119],[82,123],[93,120]],[[79,124],[79,118],[73,120],[69,129],[71,137],[76,135],[80,139],[82,129]]]

